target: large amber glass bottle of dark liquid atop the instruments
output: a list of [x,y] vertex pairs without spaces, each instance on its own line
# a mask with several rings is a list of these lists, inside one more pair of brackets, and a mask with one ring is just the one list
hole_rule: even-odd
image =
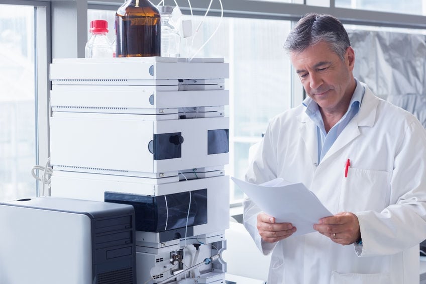
[[116,13],[117,57],[161,56],[161,17],[149,0],[128,0]]

